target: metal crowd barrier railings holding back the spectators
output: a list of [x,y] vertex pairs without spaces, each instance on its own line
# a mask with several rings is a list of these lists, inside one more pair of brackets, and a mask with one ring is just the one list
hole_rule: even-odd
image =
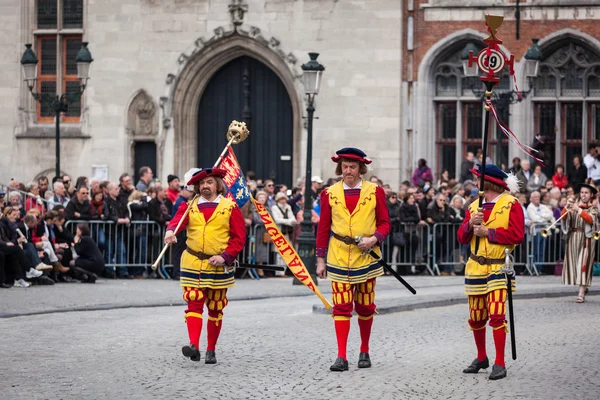
[[[115,224],[112,221],[67,221],[65,227],[75,234],[77,224],[86,223],[91,236],[105,258],[107,268],[129,269],[131,273],[142,272],[152,265],[163,248],[166,226],[154,221],[131,221],[130,224]],[[382,256],[400,273],[425,272],[441,275],[441,272],[464,273],[468,260],[469,246],[463,246],[456,240],[459,224],[438,223],[406,224],[401,223],[398,232],[392,232],[382,244]],[[565,252],[565,237],[556,229],[548,238],[542,238],[542,227],[531,225],[522,244],[513,252],[517,272],[527,271],[530,275],[539,275],[539,270],[554,266],[560,268]],[[247,228],[247,240],[238,260],[244,263],[279,263],[277,252],[270,241],[265,243],[263,225]],[[401,233],[404,244],[394,243],[394,236]],[[291,235],[294,242],[295,235]],[[596,243],[596,258],[600,254],[600,241]],[[167,268],[175,264],[175,247],[170,246],[160,264],[161,276],[168,278]],[[244,275],[248,270],[244,271]],[[252,276],[252,273],[250,274]]]

